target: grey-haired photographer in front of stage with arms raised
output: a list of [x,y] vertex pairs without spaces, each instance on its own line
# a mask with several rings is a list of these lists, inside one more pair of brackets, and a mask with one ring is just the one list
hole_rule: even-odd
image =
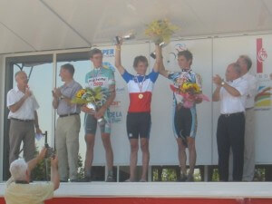
[[31,171],[40,160],[44,160],[47,149],[39,155],[25,162],[24,159],[14,160],[10,164],[11,178],[6,182],[5,202],[6,204],[41,204],[45,199],[53,198],[53,190],[60,186],[58,159],[51,158],[51,181],[47,183],[29,183]]

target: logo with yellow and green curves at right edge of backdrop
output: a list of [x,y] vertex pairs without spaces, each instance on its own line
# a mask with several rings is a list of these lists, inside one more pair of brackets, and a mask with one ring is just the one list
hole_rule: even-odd
[[271,105],[271,87],[259,86],[257,90],[257,95],[255,97],[255,107],[258,108],[268,108]]

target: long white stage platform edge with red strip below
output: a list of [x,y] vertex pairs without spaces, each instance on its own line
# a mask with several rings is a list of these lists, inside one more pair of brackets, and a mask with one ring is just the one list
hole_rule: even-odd
[[[0,204],[5,203],[0,184]],[[61,183],[46,204],[272,204],[272,182]]]

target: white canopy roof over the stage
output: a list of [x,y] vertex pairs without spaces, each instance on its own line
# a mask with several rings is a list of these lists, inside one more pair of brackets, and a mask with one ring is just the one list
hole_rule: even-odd
[[107,44],[145,24],[169,19],[175,38],[272,31],[270,0],[0,0],[0,53]]

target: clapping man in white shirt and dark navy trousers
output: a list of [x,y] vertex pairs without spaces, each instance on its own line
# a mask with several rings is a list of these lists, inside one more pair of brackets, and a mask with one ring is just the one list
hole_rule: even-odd
[[241,67],[230,63],[226,80],[219,75],[213,77],[217,85],[212,101],[220,103],[220,116],[217,129],[219,151],[219,180],[228,181],[228,158],[230,148],[233,152],[233,180],[242,180],[244,165],[245,101],[248,82],[241,78]]

